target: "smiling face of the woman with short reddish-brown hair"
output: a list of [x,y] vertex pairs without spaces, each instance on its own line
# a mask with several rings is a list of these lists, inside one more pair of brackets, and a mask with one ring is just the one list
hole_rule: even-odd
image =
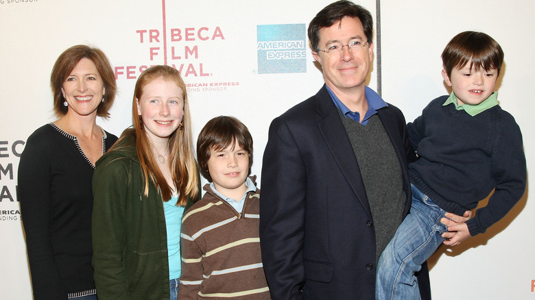
[[96,117],[105,89],[95,63],[82,58],[63,82],[61,92],[69,103],[67,114]]

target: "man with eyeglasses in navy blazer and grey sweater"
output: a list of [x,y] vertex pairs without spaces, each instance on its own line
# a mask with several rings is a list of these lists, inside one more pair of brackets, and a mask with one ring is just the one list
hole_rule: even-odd
[[[375,268],[409,212],[401,111],[366,86],[372,16],[337,1],[309,24],[325,84],[270,125],[260,240],[272,299],[375,299]],[[418,277],[430,299],[427,265]]]

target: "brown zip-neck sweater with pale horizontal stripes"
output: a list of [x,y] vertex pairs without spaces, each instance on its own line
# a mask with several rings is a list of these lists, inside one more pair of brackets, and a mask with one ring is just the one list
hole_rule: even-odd
[[260,252],[260,190],[248,192],[242,213],[206,194],[182,217],[178,299],[270,299]]

